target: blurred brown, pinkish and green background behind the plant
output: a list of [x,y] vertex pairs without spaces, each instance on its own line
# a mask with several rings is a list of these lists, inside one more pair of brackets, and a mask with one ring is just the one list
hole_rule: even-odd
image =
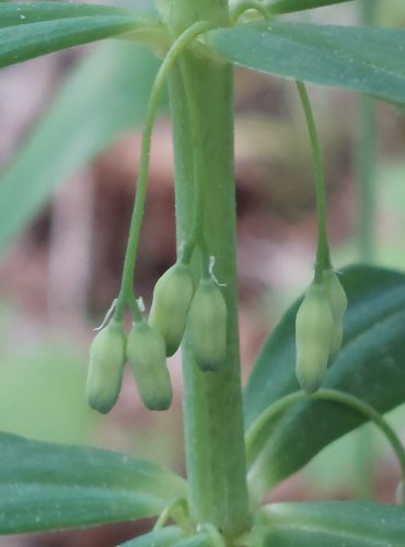
[[[366,1],[371,4],[373,0]],[[294,19],[357,24],[366,16],[361,4],[354,1]],[[403,27],[404,2],[375,2],[373,21],[363,22]],[[170,362],[175,399],[167,412],[143,409],[129,371],[119,401],[106,417],[89,409],[84,397],[93,329],[102,323],[119,287],[138,170],[139,121],[157,65],[138,46],[136,54],[125,47],[118,42],[86,46],[0,71],[0,185],[10,187],[10,181],[19,181],[13,186],[15,208],[0,219],[4,249],[0,265],[0,430],[123,451],[184,474],[180,354]],[[116,59],[121,66],[117,62],[118,68],[112,68]],[[143,79],[139,73],[134,77],[139,89],[128,74],[119,80],[128,72],[123,67],[129,59],[143,71]],[[114,79],[114,70],[120,72],[112,84],[105,79]],[[261,345],[311,280],[316,221],[311,152],[296,86],[238,70],[235,90],[240,336],[245,380]],[[319,86],[310,86],[309,92],[325,160],[335,266],[367,260],[404,269],[404,114],[383,103],[366,107],[368,120],[370,112],[375,117],[375,142],[368,131],[367,165],[377,184],[375,208],[369,208],[373,230],[368,230],[364,241],[359,100]],[[107,112],[118,120],[115,125]],[[171,128],[162,105],[137,268],[138,290],[147,306],[155,281],[175,260],[174,222]],[[395,410],[390,419],[404,438],[405,410]],[[371,496],[393,501],[400,476],[394,456],[379,433],[367,429],[366,452],[373,455],[373,462],[368,459],[370,488],[358,480],[367,466],[356,433],[325,450],[278,487],[271,499]],[[0,546],[108,547],[142,526],[1,538]]]

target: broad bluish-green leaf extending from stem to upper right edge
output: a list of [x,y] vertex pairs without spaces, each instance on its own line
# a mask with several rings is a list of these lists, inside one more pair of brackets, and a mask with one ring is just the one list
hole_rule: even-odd
[[405,32],[268,21],[209,32],[234,65],[405,103]]

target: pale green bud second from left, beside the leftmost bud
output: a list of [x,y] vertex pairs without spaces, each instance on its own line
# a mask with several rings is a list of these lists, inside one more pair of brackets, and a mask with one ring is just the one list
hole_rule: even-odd
[[161,334],[144,322],[134,323],[127,358],[143,405],[149,410],[166,410],[173,393]]

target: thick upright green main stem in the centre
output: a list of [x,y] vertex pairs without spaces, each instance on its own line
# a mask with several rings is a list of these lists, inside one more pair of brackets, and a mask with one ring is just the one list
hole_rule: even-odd
[[[169,23],[178,34],[197,20],[228,24],[224,0],[176,0]],[[183,344],[184,421],[190,512],[196,523],[211,523],[228,538],[246,529],[246,465],[238,336],[235,196],[233,178],[233,81],[230,66],[183,55],[182,69],[195,94],[205,160],[204,240],[216,257],[216,275],[225,283],[227,360],[222,369],[201,372],[186,333]],[[170,77],[176,171],[176,224],[181,247],[193,228],[194,158],[189,102],[178,66]],[[189,86],[188,86],[189,88]],[[189,98],[189,97],[188,97]],[[197,182],[197,181],[196,181]],[[192,264],[196,278],[198,260]]]

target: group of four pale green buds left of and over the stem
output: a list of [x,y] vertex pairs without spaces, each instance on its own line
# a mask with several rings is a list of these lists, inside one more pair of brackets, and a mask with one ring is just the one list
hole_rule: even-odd
[[128,362],[143,405],[150,410],[167,409],[173,391],[166,357],[178,349],[187,325],[199,369],[218,370],[227,351],[224,298],[211,278],[201,278],[194,293],[189,266],[176,263],[155,284],[148,323],[135,321],[127,339],[121,323],[113,318],[94,338],[86,381],[89,405],[103,414],[113,408]]

